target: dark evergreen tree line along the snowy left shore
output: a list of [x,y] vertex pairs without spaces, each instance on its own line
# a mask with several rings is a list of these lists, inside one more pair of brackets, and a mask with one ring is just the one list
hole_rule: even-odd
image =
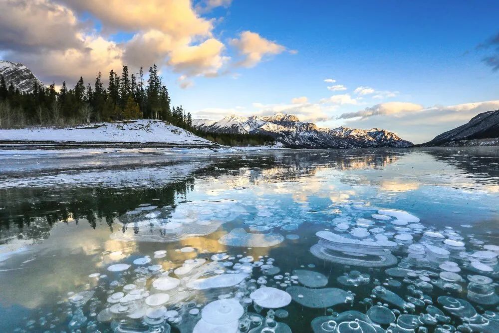
[[32,91],[23,92],[12,83],[7,85],[0,75],[0,128],[65,127],[126,119],[159,119],[220,144],[274,142],[272,137],[265,135],[207,133],[195,129],[191,113],[186,112],[182,105],[172,106],[168,89],[155,64],[149,68],[147,80],[142,67],[138,73],[129,74],[125,65],[121,75],[111,69],[107,81],[105,87],[99,72],[93,83],[85,84],[80,76],[73,88],[68,88],[66,81],[58,91],[55,83],[46,87],[35,82]]

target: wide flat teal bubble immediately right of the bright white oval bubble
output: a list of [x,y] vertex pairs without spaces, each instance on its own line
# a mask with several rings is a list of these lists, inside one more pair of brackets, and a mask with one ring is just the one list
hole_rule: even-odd
[[[299,286],[286,288],[293,301],[307,308],[328,308],[333,305],[345,303],[350,293],[338,288],[309,289]],[[300,297],[301,296],[301,297]]]

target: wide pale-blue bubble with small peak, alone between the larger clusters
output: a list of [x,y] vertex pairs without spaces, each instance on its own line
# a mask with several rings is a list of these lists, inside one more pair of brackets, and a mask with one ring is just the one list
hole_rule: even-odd
[[284,237],[279,234],[252,234],[243,228],[235,228],[230,233],[222,236],[219,243],[237,247],[270,247],[281,243]]

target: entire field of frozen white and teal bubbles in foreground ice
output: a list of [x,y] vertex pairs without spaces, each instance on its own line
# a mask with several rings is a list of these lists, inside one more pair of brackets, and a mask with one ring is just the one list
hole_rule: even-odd
[[[103,272],[89,272],[89,284],[61,301],[65,329],[499,332],[492,237],[402,210],[333,208],[320,212],[311,202],[283,209],[261,198],[140,205],[120,217],[123,230],[113,239],[179,242],[168,252],[106,254]],[[295,231],[303,223],[310,230]],[[183,241],[215,231],[208,245]],[[306,322],[310,314],[316,318]]]

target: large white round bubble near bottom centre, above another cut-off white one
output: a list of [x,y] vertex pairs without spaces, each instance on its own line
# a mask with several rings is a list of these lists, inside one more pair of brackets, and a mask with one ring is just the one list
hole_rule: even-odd
[[222,299],[208,303],[201,311],[201,318],[210,324],[223,325],[237,322],[244,312],[237,299]]

